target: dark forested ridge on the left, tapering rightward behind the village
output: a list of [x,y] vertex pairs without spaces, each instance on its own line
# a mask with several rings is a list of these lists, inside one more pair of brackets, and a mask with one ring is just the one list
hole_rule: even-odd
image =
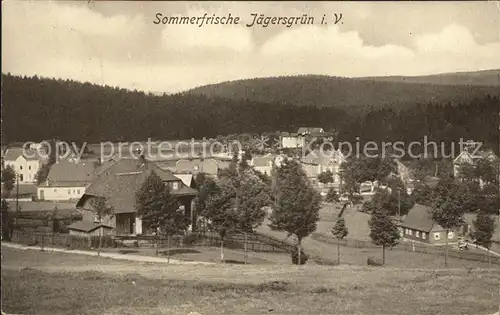
[[343,110],[287,104],[153,95],[70,80],[2,75],[7,141],[59,138],[135,141],[293,131],[304,125],[347,124]]

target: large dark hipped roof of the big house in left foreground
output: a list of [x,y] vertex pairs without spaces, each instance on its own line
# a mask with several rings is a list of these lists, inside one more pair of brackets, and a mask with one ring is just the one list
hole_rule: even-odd
[[[182,180],[172,172],[162,170],[150,161],[144,163],[137,159],[122,159],[106,168],[94,179],[78,201],[77,207],[82,207],[85,200],[91,196],[105,197],[115,213],[135,212],[135,195],[144,181],[154,171],[164,182],[179,182],[181,188],[174,195],[195,195],[196,191],[183,187]],[[186,188],[186,189],[184,189]]]

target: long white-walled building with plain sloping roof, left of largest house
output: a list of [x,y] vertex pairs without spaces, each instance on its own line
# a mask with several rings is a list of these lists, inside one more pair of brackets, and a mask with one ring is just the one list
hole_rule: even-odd
[[37,198],[78,200],[100,168],[97,160],[60,160],[51,166],[47,179],[37,186]]

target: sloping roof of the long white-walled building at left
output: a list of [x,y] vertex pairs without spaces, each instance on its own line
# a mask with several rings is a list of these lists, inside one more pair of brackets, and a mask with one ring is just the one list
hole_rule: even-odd
[[41,186],[85,186],[92,182],[99,168],[97,161],[76,163],[61,160],[51,166],[48,182],[44,182]]

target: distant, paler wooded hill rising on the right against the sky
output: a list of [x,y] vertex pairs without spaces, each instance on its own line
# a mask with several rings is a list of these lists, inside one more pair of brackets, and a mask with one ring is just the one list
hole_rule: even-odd
[[[476,77],[479,78],[477,75]],[[408,79],[408,82],[405,79]],[[451,74],[440,77],[440,80],[435,77],[351,79],[317,75],[288,76],[229,81],[197,87],[184,93],[250,99],[259,102],[287,102],[299,106],[336,106],[349,109],[388,105],[401,108],[431,101],[456,104],[482,97],[485,94],[500,96],[500,83],[496,86],[435,84],[460,81],[454,80]],[[479,79],[469,81],[480,82]],[[433,84],[426,82],[433,82]],[[463,79],[460,82],[467,81]]]

